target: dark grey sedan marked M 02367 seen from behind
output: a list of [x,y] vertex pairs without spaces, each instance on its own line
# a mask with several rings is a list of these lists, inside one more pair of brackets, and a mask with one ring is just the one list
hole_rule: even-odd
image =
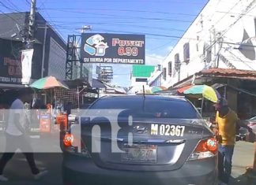
[[[64,184],[217,184],[216,139],[186,98],[107,96],[88,110],[95,117],[81,117],[81,152],[72,132],[63,140]],[[116,136],[108,117],[117,120]],[[100,133],[92,134],[96,125]],[[113,142],[120,152],[112,150]]]

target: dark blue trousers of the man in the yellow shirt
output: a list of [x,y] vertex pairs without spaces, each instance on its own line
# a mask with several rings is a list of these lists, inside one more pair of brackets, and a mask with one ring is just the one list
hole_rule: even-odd
[[219,179],[228,183],[232,173],[232,157],[235,146],[219,146]]

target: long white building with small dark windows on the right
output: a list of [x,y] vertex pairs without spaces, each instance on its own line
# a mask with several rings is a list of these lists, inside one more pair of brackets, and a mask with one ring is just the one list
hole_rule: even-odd
[[161,85],[209,68],[256,70],[256,2],[209,0],[166,57]]

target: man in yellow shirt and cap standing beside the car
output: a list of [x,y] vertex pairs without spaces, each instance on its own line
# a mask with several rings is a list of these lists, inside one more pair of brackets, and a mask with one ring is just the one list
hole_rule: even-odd
[[224,98],[220,98],[214,106],[219,135],[219,179],[223,182],[222,184],[228,184],[232,173],[232,156],[237,128],[247,128],[250,132],[252,129],[239,120]]

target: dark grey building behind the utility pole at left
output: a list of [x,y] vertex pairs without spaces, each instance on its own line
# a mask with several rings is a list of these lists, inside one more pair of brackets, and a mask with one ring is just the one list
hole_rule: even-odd
[[[25,49],[24,40],[28,37],[29,13],[2,13],[0,21],[0,66],[15,67],[16,72],[1,72],[0,83],[21,84],[21,50]],[[34,31],[34,54],[32,58],[32,80],[44,76],[55,76],[66,79],[66,42],[54,28],[36,13]],[[6,63],[6,61],[12,61]],[[16,79],[15,79],[16,78]]]

